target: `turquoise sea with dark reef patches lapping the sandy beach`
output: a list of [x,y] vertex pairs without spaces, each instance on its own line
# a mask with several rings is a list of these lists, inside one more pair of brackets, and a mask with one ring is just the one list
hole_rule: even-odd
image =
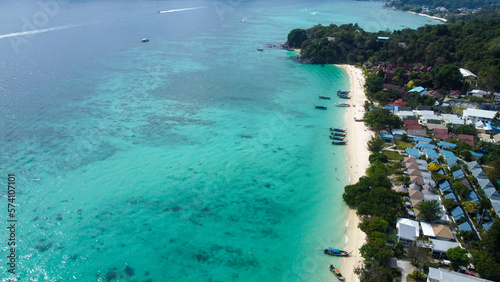
[[17,260],[11,275],[1,227],[0,277],[335,281],[343,259],[322,250],[347,240],[349,179],[328,129],[349,79],[278,47],[351,22],[438,23],[346,0],[1,1],[0,219],[14,173]]

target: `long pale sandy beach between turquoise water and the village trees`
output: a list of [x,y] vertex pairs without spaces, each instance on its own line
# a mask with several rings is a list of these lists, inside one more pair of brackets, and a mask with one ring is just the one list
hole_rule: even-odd
[[[368,140],[371,138],[371,132],[366,128],[364,122],[356,122],[354,117],[362,117],[361,111],[364,110],[366,96],[364,92],[364,75],[361,69],[351,65],[339,65],[347,71],[351,81],[351,99],[349,104],[351,107],[347,111],[347,158],[349,165],[349,184],[354,184],[358,179],[365,174],[366,169],[370,165],[368,157],[370,153],[366,147]],[[346,281],[359,281],[354,274],[354,269],[361,265],[363,257],[359,253],[359,248],[364,244],[366,235],[358,228],[360,222],[356,215],[356,210],[349,209],[347,220],[349,225],[346,229],[346,237],[348,241],[344,250],[352,251],[351,256],[345,258],[342,266],[342,274]]]

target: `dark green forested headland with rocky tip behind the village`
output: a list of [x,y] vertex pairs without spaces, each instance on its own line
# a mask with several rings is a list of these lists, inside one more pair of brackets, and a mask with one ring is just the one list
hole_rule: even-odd
[[455,65],[478,75],[488,90],[500,91],[500,11],[477,12],[474,17],[457,17],[454,23],[416,30],[369,33],[357,24],[331,24],[305,30],[307,39],[302,36],[303,31],[292,32],[303,40],[294,40],[289,45],[300,43],[302,57],[312,63],[384,61],[398,66]]

